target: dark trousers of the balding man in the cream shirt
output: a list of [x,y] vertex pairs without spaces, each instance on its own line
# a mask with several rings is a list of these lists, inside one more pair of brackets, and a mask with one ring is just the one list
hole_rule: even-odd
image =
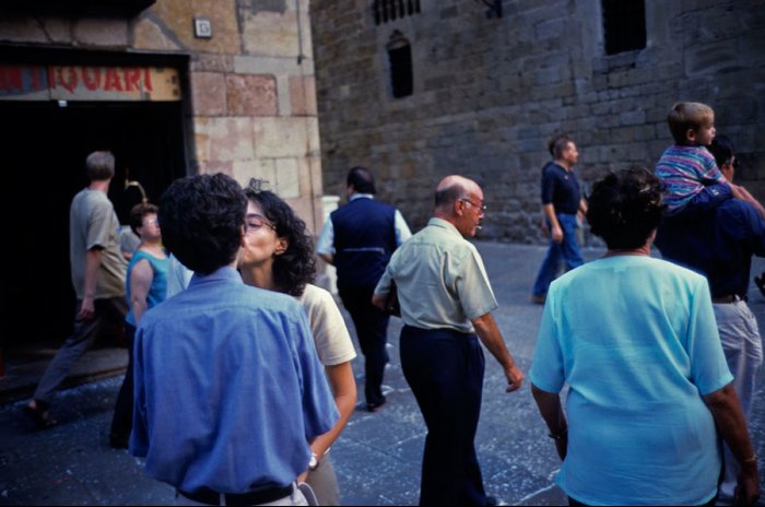
[[401,367],[427,425],[420,505],[485,505],[475,431],[484,357],[478,338],[401,330]]

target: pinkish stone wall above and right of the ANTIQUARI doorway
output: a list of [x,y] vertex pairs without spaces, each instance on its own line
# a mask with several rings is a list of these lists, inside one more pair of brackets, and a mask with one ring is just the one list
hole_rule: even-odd
[[[212,23],[197,38],[193,17]],[[0,45],[188,55],[191,172],[268,179],[311,231],[321,161],[308,0],[157,0],[134,16],[10,15]]]

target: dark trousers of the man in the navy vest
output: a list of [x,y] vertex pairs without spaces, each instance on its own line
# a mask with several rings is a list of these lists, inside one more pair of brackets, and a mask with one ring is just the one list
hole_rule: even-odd
[[353,319],[358,345],[364,354],[364,396],[369,405],[385,403],[382,396],[382,375],[388,363],[387,342],[389,317],[372,304],[375,285],[338,286],[343,306]]

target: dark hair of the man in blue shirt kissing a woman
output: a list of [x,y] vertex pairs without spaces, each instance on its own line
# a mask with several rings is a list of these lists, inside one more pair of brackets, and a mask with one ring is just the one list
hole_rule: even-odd
[[236,259],[246,211],[245,193],[231,176],[177,179],[160,201],[162,243],[190,270],[210,274]]

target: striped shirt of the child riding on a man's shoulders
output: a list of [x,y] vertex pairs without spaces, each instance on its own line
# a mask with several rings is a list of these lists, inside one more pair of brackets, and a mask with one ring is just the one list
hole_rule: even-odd
[[668,148],[656,164],[655,174],[666,187],[664,203],[670,214],[685,208],[704,187],[727,182],[704,146]]

